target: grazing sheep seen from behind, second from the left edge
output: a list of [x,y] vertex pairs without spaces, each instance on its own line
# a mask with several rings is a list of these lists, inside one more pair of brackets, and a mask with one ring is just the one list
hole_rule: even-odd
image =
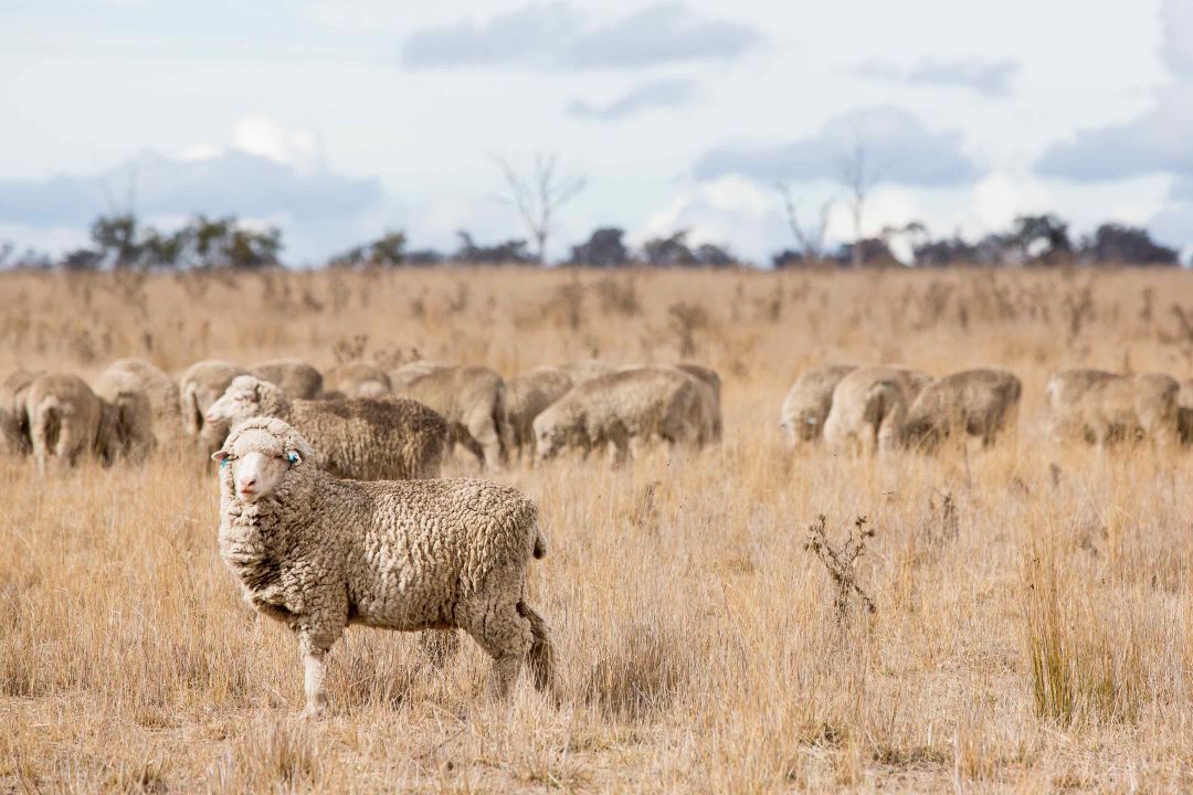
[[25,393],[25,411],[33,456],[43,474],[50,458],[74,466],[91,453],[107,466],[120,451],[116,408],[78,375],[50,373],[35,379]]

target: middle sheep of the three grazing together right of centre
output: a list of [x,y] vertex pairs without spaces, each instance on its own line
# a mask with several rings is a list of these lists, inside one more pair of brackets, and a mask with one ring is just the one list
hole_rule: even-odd
[[860,367],[833,390],[824,441],[839,449],[874,453],[891,446],[908,406],[931,379],[901,367]]

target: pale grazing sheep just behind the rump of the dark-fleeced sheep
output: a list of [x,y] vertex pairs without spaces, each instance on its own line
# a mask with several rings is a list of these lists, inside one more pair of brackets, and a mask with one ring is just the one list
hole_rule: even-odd
[[427,404],[444,416],[450,441],[486,467],[500,466],[513,447],[506,410],[506,383],[488,367],[414,362],[390,374],[397,395]]

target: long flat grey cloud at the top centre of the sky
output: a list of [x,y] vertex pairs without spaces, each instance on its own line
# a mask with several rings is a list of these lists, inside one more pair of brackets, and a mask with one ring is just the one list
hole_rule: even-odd
[[660,2],[604,25],[568,2],[549,2],[499,13],[481,25],[460,21],[415,31],[402,57],[415,68],[637,69],[733,60],[761,41],[748,25],[700,19],[682,2]]

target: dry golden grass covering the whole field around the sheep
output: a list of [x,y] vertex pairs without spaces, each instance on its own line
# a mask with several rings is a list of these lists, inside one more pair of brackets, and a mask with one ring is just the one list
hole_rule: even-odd
[[[723,374],[725,442],[496,476],[550,535],[531,588],[561,708],[486,702],[471,644],[434,670],[413,636],[354,628],[316,723],[293,640],[218,559],[203,465],[0,461],[0,793],[1188,790],[1191,459],[1040,436],[1055,368],[1188,375],[1182,308],[1172,272],[4,275],[0,372],[684,354]],[[784,391],[828,360],[1008,367],[1019,434],[787,452]],[[843,628],[805,549],[820,514],[833,539],[876,530],[851,582],[877,611]]]

